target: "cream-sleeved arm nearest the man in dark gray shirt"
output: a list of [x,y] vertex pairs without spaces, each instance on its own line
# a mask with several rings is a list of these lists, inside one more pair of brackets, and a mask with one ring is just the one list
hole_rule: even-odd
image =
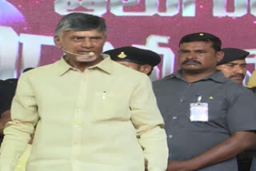
[[159,112],[150,79],[145,75],[130,100],[131,121],[147,161],[148,171],[166,170],[168,147],[163,119]]

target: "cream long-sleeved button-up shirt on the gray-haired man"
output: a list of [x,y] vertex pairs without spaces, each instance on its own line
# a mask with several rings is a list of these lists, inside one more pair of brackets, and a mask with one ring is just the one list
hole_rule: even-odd
[[150,79],[109,57],[83,73],[64,59],[26,72],[11,118],[1,171],[14,170],[35,125],[26,171],[144,171],[144,160],[149,171],[166,170],[166,133]]

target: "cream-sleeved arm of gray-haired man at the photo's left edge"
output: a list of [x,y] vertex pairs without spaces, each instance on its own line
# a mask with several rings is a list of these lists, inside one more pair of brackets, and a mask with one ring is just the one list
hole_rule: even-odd
[[38,121],[33,87],[26,74],[18,81],[18,87],[11,105],[11,121],[4,129],[4,140],[0,149],[0,170],[14,171],[18,158],[24,153],[30,134]]

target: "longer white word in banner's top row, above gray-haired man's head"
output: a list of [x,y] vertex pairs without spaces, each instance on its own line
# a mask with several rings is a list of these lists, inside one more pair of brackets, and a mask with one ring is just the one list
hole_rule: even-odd
[[[160,16],[174,16],[179,14],[182,3],[182,15],[186,17],[193,17],[195,15],[195,0],[166,0],[166,12],[158,11],[159,0],[145,0],[143,6],[145,10],[126,12],[124,10],[127,6],[135,6],[140,3],[139,0],[109,0],[110,6],[107,6],[105,0],[56,0],[54,2],[55,12],[58,14],[70,14],[72,12],[85,12],[88,14],[102,15],[106,14],[107,9],[112,14],[117,16],[152,16],[158,14]],[[75,10],[78,7],[83,7],[84,10]]]

